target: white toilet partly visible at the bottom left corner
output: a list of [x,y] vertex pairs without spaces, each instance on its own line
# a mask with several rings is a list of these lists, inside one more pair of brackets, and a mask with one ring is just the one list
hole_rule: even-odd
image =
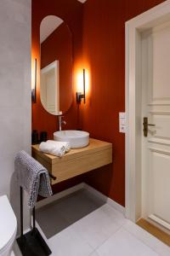
[[17,220],[7,195],[0,196],[0,256],[14,255],[12,252],[17,231]]

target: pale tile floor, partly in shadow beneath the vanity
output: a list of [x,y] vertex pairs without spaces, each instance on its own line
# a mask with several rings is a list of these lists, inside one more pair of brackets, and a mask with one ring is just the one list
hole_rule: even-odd
[[87,190],[39,209],[37,223],[53,256],[170,256],[169,247]]

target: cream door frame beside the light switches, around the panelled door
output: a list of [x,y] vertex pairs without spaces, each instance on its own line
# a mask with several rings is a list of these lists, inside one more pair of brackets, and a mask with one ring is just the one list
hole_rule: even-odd
[[125,215],[136,222],[142,213],[140,32],[170,20],[170,0],[126,22],[126,177]]

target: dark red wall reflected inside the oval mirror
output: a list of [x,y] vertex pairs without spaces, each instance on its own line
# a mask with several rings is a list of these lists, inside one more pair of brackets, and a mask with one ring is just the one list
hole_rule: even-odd
[[41,68],[59,61],[59,110],[64,113],[72,102],[72,46],[71,31],[65,22],[41,44]]

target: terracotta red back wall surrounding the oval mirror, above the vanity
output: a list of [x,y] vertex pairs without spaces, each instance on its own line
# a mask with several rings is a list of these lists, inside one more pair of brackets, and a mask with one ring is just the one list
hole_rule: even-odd
[[[39,82],[40,82],[40,24],[47,15],[57,15],[70,27],[73,40],[73,71],[77,70],[82,61],[82,3],[77,0],[32,0],[32,46],[31,57],[32,67],[34,59],[37,58],[37,103],[32,104],[32,129],[38,131],[48,131],[48,137],[53,138],[54,131],[57,131],[57,118],[47,113],[40,102]],[[33,69],[32,69],[33,70]],[[73,72],[74,74],[75,72]],[[32,73],[33,77],[33,73]],[[74,77],[73,77],[73,84]],[[77,128],[77,104],[75,102],[76,91],[73,90],[73,102],[68,113],[65,114],[66,129]]]

